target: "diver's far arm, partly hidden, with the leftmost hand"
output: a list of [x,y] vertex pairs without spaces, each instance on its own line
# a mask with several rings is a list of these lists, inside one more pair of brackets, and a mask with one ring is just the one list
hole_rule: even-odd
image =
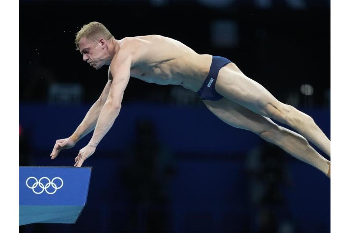
[[82,123],[78,126],[75,132],[68,138],[56,140],[54,149],[50,156],[51,159],[55,159],[61,150],[69,149],[73,147],[77,141],[82,139],[86,134],[90,133],[96,126],[100,111],[107,100],[108,93],[110,91],[112,80],[108,80],[102,94],[98,100],[91,106],[90,110],[85,115]]

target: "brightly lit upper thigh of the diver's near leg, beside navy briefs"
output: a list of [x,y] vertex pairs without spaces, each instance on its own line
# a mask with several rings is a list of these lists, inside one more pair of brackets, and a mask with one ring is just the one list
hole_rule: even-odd
[[271,111],[283,108],[279,102],[260,83],[246,77],[231,64],[224,66],[218,73],[215,90],[226,99],[266,117],[272,117]]

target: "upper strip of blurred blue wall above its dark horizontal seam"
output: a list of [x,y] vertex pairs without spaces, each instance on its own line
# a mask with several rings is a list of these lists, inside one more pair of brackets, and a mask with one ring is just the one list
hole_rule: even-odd
[[[56,139],[69,137],[91,105],[20,104],[20,124],[30,132],[36,150],[52,150]],[[304,110],[303,110],[304,111]],[[330,111],[307,110],[330,136]],[[253,133],[232,128],[202,107],[172,107],[148,103],[123,105],[98,150],[121,150],[135,137],[137,119],[151,119],[162,143],[176,153],[244,153],[261,140]],[[79,144],[84,146],[91,135]]]

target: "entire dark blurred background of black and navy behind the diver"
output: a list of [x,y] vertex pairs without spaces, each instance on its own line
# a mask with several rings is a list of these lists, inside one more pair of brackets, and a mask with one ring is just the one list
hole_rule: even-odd
[[[224,56],[330,137],[330,1],[19,4],[20,165],[72,166],[89,141],[49,159],[107,81],[107,66],[96,71],[75,50],[75,33],[92,21],[116,39],[159,34]],[[120,116],[84,166],[93,172],[77,223],[20,231],[330,231],[326,176],[224,124],[182,87],[131,78]]]

